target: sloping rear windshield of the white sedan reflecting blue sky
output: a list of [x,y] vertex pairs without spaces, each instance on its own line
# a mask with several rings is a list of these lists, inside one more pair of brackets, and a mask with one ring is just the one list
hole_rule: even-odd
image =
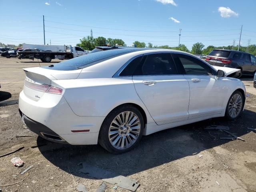
[[76,70],[81,68],[86,68],[92,66],[103,60],[108,60],[122,54],[127,54],[129,52],[138,51],[137,49],[114,49],[107,51],[95,52],[92,54],[87,54],[64,62],[53,64],[50,66],[44,66],[42,68],[51,69],[51,70]]

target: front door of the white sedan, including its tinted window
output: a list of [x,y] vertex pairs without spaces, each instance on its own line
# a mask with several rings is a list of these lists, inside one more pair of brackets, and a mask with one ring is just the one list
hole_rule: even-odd
[[228,89],[225,88],[217,72],[202,60],[188,54],[172,54],[177,65],[183,67],[184,77],[188,80],[190,102],[189,120],[219,114],[223,109],[223,98]]

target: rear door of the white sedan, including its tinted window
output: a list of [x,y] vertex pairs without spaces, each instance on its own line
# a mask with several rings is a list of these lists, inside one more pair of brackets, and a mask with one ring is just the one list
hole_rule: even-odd
[[188,81],[178,74],[170,52],[145,54],[132,80],[158,125],[188,119]]

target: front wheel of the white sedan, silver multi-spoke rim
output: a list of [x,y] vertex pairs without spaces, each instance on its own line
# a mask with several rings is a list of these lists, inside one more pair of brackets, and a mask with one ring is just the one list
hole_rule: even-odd
[[[232,93],[226,106],[225,117],[229,120],[237,119],[244,108],[244,99],[240,91]],[[239,110],[239,111],[238,111]]]

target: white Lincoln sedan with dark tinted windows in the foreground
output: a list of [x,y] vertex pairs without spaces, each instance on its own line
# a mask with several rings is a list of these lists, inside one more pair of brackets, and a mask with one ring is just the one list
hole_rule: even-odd
[[238,69],[186,52],[122,48],[25,68],[22,120],[48,140],[126,152],[142,135],[244,110]]

